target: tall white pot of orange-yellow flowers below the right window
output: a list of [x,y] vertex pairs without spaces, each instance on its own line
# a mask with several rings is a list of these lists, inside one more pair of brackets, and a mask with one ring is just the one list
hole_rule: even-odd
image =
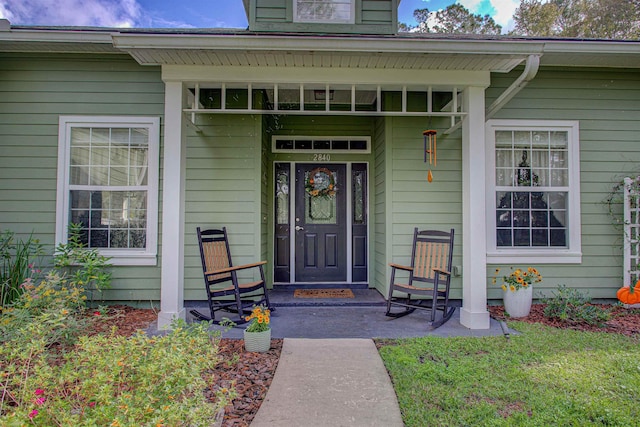
[[[511,274],[502,278],[504,311],[510,317],[526,317],[531,311],[533,284],[542,281],[542,275],[533,267],[526,270],[511,267]],[[500,269],[496,269],[496,276]],[[494,279],[495,283],[495,279]]]

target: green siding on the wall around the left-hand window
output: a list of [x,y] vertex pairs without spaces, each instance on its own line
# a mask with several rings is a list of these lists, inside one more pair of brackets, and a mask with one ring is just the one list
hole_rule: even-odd
[[[0,53],[0,229],[33,232],[52,251],[59,116],[163,113],[159,67],[126,55]],[[105,300],[159,299],[159,267],[113,273]]]

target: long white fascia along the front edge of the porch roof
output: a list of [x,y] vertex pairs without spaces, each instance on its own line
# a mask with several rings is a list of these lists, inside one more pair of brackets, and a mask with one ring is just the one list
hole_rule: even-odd
[[114,34],[113,44],[129,49],[204,49],[204,50],[268,50],[326,51],[376,53],[468,53],[474,55],[541,54],[539,41],[443,40],[404,37],[306,37],[244,34],[163,35]]

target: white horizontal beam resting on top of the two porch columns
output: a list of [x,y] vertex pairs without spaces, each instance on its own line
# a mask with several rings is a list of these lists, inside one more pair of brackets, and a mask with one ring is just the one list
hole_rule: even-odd
[[489,87],[489,71],[163,65],[165,82],[326,83]]

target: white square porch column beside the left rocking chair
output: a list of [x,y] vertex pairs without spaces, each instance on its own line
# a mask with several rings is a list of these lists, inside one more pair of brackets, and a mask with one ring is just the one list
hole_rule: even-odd
[[166,82],[164,170],[162,175],[162,275],[158,329],[168,328],[184,310],[184,203],[186,138],[181,82]]

